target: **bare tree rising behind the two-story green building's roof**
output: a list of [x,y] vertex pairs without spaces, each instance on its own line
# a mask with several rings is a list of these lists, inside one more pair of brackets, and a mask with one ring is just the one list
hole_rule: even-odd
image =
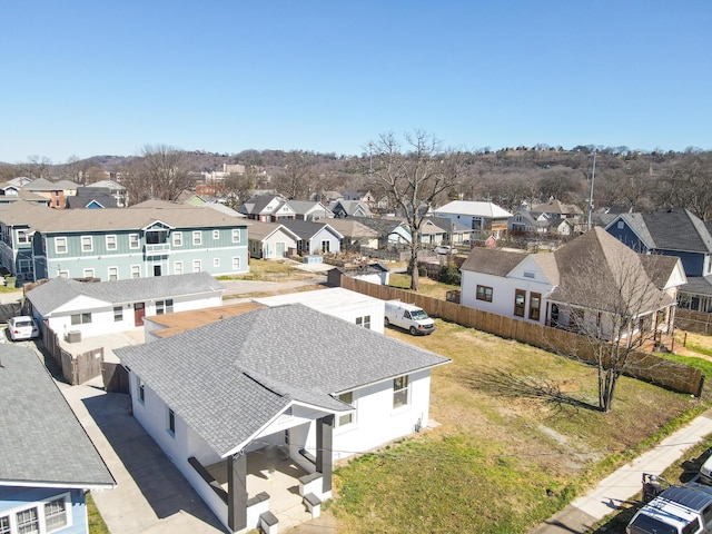
[[[167,145],[147,145],[141,156],[144,159],[140,187],[148,189],[149,198],[172,201],[192,185],[192,161],[189,152]],[[136,196],[145,195],[142,191]]]

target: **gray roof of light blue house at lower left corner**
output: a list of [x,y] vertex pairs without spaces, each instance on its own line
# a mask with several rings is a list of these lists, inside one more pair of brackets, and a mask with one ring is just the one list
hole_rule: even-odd
[[116,485],[33,350],[0,344],[0,485]]

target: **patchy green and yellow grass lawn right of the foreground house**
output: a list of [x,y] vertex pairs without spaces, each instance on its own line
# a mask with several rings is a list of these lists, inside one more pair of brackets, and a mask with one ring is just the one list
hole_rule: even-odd
[[525,533],[709,407],[621,378],[602,414],[536,395],[595,404],[592,367],[442,320],[426,337],[386,334],[453,359],[433,372],[439,426],[336,469],[339,533]]

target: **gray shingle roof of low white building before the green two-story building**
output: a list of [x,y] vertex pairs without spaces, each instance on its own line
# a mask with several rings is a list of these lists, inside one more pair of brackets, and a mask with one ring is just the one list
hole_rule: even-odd
[[40,315],[48,316],[55,309],[82,295],[117,305],[224,289],[222,284],[204,271],[97,283],[58,277],[28,291],[27,298]]

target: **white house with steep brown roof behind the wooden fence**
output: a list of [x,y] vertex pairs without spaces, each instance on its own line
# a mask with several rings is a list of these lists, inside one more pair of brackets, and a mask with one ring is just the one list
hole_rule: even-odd
[[474,248],[461,270],[463,306],[571,328],[627,305],[639,330],[671,332],[686,281],[680,260],[637,255],[602,228],[554,253]]

